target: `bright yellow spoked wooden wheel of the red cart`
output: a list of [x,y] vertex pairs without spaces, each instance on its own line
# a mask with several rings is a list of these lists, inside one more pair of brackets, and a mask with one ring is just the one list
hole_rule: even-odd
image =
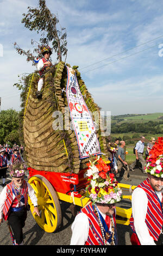
[[28,203],[33,217],[43,230],[53,233],[61,223],[61,209],[57,194],[51,183],[41,175],[31,177],[28,182],[35,191],[40,211],[40,217],[33,214],[34,205],[28,197]]

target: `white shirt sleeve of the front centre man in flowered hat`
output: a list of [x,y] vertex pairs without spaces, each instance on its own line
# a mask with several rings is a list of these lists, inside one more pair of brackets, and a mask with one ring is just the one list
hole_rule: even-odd
[[89,220],[83,212],[80,212],[71,226],[72,237],[70,245],[85,245],[89,235]]

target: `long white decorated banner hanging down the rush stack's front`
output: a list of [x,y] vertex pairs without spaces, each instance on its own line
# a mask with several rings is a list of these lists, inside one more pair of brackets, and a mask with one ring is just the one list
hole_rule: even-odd
[[96,136],[95,126],[89,109],[83,99],[78,85],[76,73],[67,67],[66,95],[73,124],[77,136],[79,157],[84,159],[90,155],[99,155],[101,150]]

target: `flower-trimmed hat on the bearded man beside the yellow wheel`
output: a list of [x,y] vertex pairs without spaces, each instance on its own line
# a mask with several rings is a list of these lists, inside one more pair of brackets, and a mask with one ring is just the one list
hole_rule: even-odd
[[9,166],[9,169],[10,176],[18,178],[26,174],[27,166],[23,162],[15,162],[11,166]]

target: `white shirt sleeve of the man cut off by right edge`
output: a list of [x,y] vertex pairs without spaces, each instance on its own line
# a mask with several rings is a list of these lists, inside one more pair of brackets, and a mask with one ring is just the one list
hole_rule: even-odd
[[134,218],[134,227],[136,235],[141,245],[155,245],[155,242],[146,225],[146,214],[148,198],[146,192],[142,188],[136,188],[132,194],[132,212]]

